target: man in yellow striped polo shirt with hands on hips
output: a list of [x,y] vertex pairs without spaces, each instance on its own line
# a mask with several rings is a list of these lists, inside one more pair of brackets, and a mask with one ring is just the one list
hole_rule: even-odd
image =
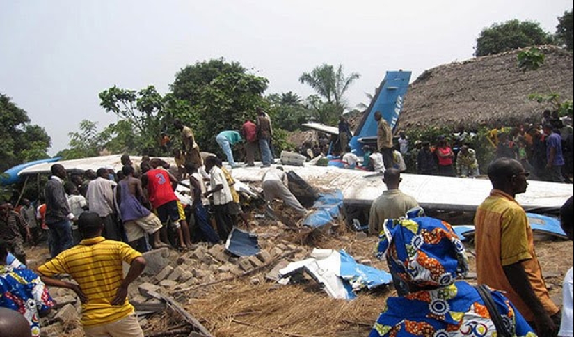
[[[143,337],[127,287],[143,272],[145,259],[124,242],[102,237],[104,224],[96,213],[81,214],[78,229],[84,239],[77,246],[38,267],[42,281],[77,293],[86,337]],[[125,278],[122,262],[130,265]],[[53,279],[56,274],[70,274],[78,284]]]

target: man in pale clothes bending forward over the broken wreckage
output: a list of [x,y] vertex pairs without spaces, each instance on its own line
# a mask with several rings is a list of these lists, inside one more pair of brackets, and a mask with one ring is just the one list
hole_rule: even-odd
[[281,199],[285,205],[292,207],[298,214],[306,215],[308,211],[299,203],[287,186],[289,186],[289,180],[281,166],[269,169],[263,175],[263,193],[266,203],[269,205],[273,200]]

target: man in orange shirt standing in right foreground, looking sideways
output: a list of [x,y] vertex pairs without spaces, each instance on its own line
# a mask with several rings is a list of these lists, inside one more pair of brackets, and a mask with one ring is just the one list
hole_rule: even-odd
[[528,175],[516,159],[488,166],[493,190],[475,216],[478,282],[507,292],[539,336],[556,336],[560,311],[542,278],[526,212],[514,199],[526,191]]

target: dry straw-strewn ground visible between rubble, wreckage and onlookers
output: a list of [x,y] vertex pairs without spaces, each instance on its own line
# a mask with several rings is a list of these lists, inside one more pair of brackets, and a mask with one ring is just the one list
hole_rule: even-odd
[[[260,236],[271,232],[269,221],[257,221],[252,228]],[[273,227],[276,230],[277,226]],[[286,226],[279,226],[278,239],[303,247],[310,253],[313,248],[344,249],[358,261],[388,270],[386,263],[374,258],[376,238],[359,239],[355,233],[338,226],[328,236],[303,240]],[[276,233],[273,233],[276,234]],[[263,241],[263,240],[260,240]],[[261,242],[269,248],[272,241]],[[470,271],[475,272],[474,246],[467,244]],[[564,240],[538,240],[536,253],[555,303],[561,303],[561,282],[573,265],[573,243]],[[29,248],[28,263],[36,267],[47,258],[47,248]],[[370,327],[385,305],[385,299],[394,295],[392,287],[378,292],[364,292],[353,301],[330,299],[319,285],[310,279],[301,279],[294,285],[278,285],[264,279],[265,272],[247,278],[218,283],[183,294],[175,294],[177,301],[198,318],[217,337],[355,337],[367,336]],[[475,283],[475,279],[468,279]],[[181,322],[174,315],[164,313],[150,319],[146,336],[173,329]]]

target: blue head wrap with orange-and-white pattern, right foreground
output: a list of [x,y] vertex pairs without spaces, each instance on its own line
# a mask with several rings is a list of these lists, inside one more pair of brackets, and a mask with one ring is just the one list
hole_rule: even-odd
[[444,287],[468,273],[464,246],[445,221],[388,219],[380,239],[377,258],[386,258],[389,268],[408,283]]

